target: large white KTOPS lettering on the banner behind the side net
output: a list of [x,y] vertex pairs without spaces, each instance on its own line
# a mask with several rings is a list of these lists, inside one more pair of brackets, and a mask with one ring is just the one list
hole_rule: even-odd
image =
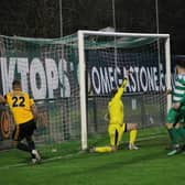
[[35,57],[0,57],[1,88],[3,95],[12,89],[12,81],[19,75],[22,89],[30,91],[35,99],[70,96],[66,61]]

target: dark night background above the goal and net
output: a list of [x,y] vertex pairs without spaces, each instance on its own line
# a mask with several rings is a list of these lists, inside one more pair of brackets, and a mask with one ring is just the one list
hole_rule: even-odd
[[[156,33],[156,0],[115,0],[116,31]],[[185,54],[185,1],[159,0],[159,33],[171,34],[172,54]],[[0,34],[58,37],[113,26],[112,0],[1,0]]]

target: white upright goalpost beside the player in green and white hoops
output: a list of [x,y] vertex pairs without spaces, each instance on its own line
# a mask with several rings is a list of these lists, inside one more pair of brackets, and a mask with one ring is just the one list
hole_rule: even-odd
[[[171,86],[171,48],[170,48],[170,36],[165,40],[165,67],[166,67],[166,88],[172,89]],[[167,95],[167,107],[168,110],[172,106],[172,97]]]

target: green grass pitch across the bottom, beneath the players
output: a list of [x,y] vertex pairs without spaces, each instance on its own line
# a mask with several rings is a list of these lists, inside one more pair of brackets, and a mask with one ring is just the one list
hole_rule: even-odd
[[[140,134],[141,138],[143,133]],[[98,145],[101,142],[98,142]],[[102,140],[105,143],[105,140]],[[29,164],[26,153],[0,152],[0,184],[3,185],[184,185],[185,154],[167,156],[167,134],[138,142],[139,151],[124,145],[115,153],[80,153],[78,143],[61,144],[44,151],[44,162]],[[47,152],[46,152],[47,151]],[[57,159],[51,159],[52,156]]]

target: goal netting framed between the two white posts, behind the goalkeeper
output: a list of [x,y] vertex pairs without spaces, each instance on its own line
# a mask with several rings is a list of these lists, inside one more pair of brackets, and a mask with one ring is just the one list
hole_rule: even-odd
[[143,36],[85,35],[88,138],[107,133],[108,102],[127,70],[122,96],[124,122],[161,132],[166,115],[165,40]]

